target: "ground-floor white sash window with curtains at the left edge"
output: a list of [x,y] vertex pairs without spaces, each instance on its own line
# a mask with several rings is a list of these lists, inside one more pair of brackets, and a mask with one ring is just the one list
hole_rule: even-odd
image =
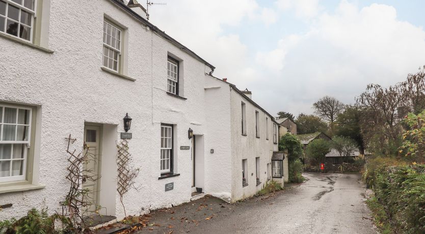
[[25,180],[31,115],[30,108],[0,104],[0,182]]

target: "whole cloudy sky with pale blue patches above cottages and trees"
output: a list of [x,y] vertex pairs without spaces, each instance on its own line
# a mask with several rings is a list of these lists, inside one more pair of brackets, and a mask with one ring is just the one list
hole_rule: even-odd
[[312,113],[325,95],[353,103],[366,84],[425,65],[421,0],[156,2],[167,5],[151,7],[150,22],[274,115]]

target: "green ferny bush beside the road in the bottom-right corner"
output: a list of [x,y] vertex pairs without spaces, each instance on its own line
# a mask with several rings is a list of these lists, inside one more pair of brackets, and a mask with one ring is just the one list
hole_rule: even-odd
[[425,165],[379,166],[370,181],[395,232],[425,233]]

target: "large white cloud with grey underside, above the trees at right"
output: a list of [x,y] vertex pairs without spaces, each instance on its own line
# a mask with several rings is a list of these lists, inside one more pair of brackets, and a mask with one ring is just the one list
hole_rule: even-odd
[[261,100],[271,112],[312,112],[311,104],[324,95],[353,103],[367,83],[394,84],[425,63],[425,32],[397,19],[387,5],[358,9],[342,1],[294,38],[257,55],[269,74],[279,74],[273,89],[284,91],[269,96],[284,100],[279,107]]

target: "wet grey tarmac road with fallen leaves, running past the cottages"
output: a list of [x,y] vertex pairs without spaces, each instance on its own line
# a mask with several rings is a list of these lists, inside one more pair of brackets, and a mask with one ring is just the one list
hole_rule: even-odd
[[163,225],[140,233],[377,233],[364,203],[360,174],[303,176],[308,181],[299,187],[269,197],[235,204],[203,198],[154,212],[151,222]]

